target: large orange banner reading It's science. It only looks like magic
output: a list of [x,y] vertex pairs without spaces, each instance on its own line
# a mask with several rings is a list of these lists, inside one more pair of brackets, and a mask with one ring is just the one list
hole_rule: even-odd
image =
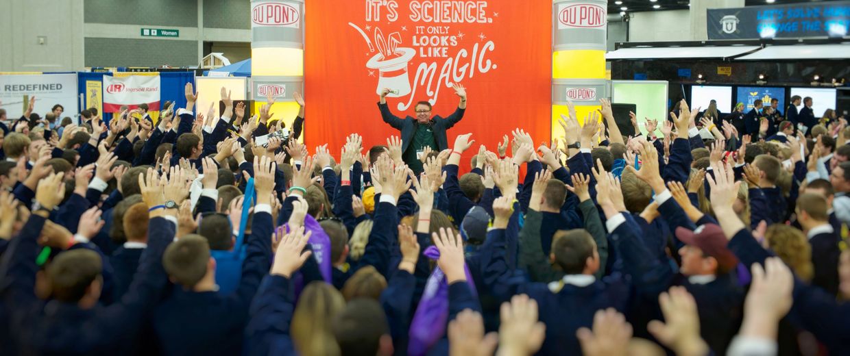
[[[449,116],[467,88],[463,120],[448,131],[496,142],[516,127],[536,143],[548,140],[552,110],[552,3],[545,1],[352,0],[309,1],[304,21],[304,125],[309,146],[333,155],[350,133],[366,149],[399,130],[381,120],[378,92],[395,116],[416,116],[429,100],[433,115]],[[465,162],[468,162],[464,160]],[[462,165],[467,170],[468,163]]]

